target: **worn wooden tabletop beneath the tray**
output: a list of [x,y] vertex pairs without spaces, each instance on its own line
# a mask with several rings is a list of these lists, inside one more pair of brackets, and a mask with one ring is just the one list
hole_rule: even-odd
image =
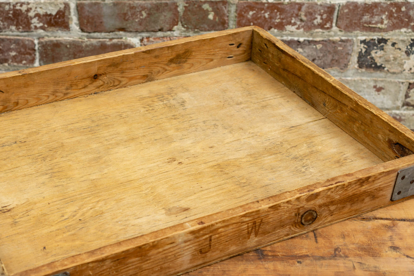
[[337,274],[414,275],[414,199],[185,275]]

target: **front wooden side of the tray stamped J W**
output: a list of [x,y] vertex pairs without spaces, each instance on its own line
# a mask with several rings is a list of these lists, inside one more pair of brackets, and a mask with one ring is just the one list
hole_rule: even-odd
[[[14,276],[180,274],[274,242],[337,223],[399,201],[390,201],[399,169],[414,155],[223,211]],[[303,225],[303,213],[317,218]]]

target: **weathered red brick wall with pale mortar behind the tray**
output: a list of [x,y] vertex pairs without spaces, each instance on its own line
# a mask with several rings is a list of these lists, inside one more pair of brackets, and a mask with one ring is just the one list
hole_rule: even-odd
[[414,128],[410,1],[0,0],[0,71],[257,25]]

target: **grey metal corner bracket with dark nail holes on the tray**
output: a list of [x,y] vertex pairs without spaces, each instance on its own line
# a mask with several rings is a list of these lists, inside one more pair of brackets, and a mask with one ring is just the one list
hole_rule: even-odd
[[414,195],[414,166],[400,169],[395,179],[391,201]]

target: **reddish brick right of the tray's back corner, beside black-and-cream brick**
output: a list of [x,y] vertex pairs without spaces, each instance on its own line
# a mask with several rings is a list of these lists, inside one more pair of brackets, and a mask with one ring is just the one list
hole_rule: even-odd
[[354,45],[351,39],[325,39],[320,41],[290,39],[283,42],[320,68],[339,68],[341,70],[348,68],[352,46]]

